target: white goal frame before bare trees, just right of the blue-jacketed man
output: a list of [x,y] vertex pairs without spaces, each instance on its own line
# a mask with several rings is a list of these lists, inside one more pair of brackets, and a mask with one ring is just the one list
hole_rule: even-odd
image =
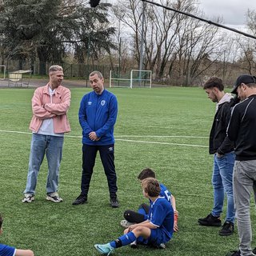
[[[134,78],[134,72],[148,72],[150,74],[150,78],[148,79],[142,79],[142,78]],[[127,86],[112,86],[112,81],[118,81],[118,82],[128,82],[129,81],[129,85]],[[130,70],[130,78],[113,78],[112,76],[112,70],[110,70],[110,88],[111,87],[120,87],[120,88],[128,88],[130,87],[130,89],[132,89],[134,87],[134,81],[136,82],[149,82],[149,86],[143,86],[146,88],[151,88],[152,86],[152,71],[151,70]],[[136,86],[136,87],[140,87],[140,86]]]

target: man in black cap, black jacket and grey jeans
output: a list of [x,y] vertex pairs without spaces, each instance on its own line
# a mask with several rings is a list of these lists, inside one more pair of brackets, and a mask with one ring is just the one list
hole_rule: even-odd
[[243,74],[234,85],[234,94],[242,102],[234,106],[227,135],[234,141],[234,202],[236,206],[239,234],[239,250],[227,255],[255,255],[250,243],[250,193],[256,183],[256,77]]

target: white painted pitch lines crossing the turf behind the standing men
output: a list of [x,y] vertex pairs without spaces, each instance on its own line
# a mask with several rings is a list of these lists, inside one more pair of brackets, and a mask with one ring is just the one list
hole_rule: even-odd
[[[0,133],[10,133],[10,134],[31,134],[31,132],[25,131],[17,131],[17,130],[0,130]],[[75,135],[65,135],[67,138],[82,138],[82,136],[75,136]],[[121,138],[118,138],[121,137]],[[146,142],[140,140],[132,140],[132,139],[124,139],[123,137],[130,137],[130,138],[207,138],[207,137],[200,137],[200,136],[159,136],[159,135],[117,135],[115,136],[116,141],[120,142],[136,142],[136,143],[147,143],[147,144],[160,144],[160,145],[172,145],[172,146],[192,146],[192,147],[204,147],[207,148],[208,146],[203,145],[194,145],[194,144],[181,144],[181,143],[170,143],[170,142]]]

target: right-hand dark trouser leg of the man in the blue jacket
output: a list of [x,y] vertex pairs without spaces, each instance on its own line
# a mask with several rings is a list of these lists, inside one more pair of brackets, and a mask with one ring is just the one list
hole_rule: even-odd
[[107,178],[107,183],[110,190],[110,198],[115,198],[117,196],[117,175],[115,173],[114,166],[114,144],[99,146],[99,154],[102,159],[102,165]]

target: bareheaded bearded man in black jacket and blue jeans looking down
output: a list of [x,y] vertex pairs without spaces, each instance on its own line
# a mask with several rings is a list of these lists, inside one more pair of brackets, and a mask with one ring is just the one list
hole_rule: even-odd
[[214,122],[210,130],[209,153],[214,154],[212,184],[214,187],[214,207],[206,218],[199,218],[202,226],[222,226],[220,215],[227,197],[226,220],[219,231],[220,235],[230,235],[234,232],[234,195],[233,168],[234,143],[226,136],[226,128],[230,121],[231,106],[234,98],[225,94],[221,78],[212,77],[203,86],[212,102],[217,102]]

